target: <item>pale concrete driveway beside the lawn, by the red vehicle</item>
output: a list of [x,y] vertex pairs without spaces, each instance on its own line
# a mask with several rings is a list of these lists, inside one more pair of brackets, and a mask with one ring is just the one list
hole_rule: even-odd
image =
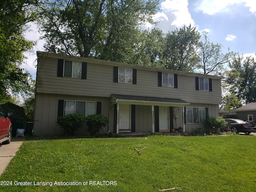
[[22,145],[24,137],[13,137],[10,144],[0,144],[0,176],[8,166],[9,162],[16,155],[16,152]]

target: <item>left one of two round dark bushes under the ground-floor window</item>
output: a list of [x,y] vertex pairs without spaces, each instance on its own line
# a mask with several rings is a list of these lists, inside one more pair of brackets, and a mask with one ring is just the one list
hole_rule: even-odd
[[83,125],[84,117],[81,114],[67,114],[64,117],[58,116],[58,125],[64,130],[64,134],[71,136]]

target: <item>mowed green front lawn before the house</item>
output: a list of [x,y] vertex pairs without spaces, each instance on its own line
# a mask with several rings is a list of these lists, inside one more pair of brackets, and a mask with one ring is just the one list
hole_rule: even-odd
[[[134,148],[142,149],[141,155]],[[0,186],[6,192],[157,192],[175,187],[189,192],[254,192],[256,136],[29,141],[22,144],[0,181],[12,181],[11,186]],[[15,181],[32,186],[16,186]]]

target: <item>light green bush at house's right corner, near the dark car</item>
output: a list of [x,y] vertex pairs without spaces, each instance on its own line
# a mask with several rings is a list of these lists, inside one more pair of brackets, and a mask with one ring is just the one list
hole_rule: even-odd
[[206,127],[210,129],[210,132],[216,133],[218,129],[224,128],[228,123],[222,117],[208,117],[206,120]]

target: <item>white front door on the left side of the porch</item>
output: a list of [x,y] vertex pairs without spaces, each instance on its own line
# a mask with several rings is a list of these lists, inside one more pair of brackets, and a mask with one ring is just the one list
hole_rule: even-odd
[[131,130],[130,105],[119,105],[119,130]]

